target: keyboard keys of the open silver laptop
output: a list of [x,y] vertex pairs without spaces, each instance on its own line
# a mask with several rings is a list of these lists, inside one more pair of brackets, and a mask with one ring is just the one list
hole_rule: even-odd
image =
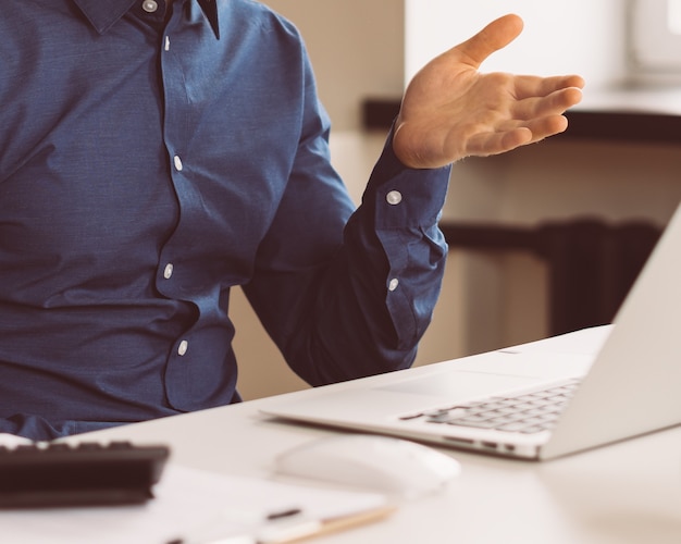
[[579,380],[574,380],[542,391],[516,396],[492,397],[404,416],[399,419],[403,421],[420,419],[428,423],[494,429],[513,433],[540,433],[554,426],[578,385]]

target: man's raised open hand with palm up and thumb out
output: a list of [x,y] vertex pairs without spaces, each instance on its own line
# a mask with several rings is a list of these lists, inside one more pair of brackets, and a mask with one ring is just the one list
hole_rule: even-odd
[[436,57],[409,84],[393,148],[407,166],[438,168],[538,141],[568,126],[562,113],[582,98],[577,75],[538,77],[478,70],[522,30],[506,15]]

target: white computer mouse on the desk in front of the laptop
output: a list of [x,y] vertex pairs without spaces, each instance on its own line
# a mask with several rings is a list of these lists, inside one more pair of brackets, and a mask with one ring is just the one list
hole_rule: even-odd
[[284,452],[275,459],[274,471],[411,498],[445,487],[461,468],[456,459],[416,442],[344,434]]

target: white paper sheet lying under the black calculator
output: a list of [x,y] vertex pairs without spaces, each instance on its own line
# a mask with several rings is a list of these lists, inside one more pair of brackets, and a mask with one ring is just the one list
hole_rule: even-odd
[[[165,544],[182,540],[194,544],[387,505],[380,494],[213,474],[173,465],[166,467],[154,495],[140,506],[0,510],[0,543]],[[292,509],[300,514],[267,520]]]

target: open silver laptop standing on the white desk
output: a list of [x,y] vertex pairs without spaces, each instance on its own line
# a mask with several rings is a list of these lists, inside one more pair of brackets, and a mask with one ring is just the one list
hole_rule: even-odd
[[678,425],[680,276],[681,206],[595,355],[558,338],[550,353],[500,349],[275,397],[262,411],[536,460]]

